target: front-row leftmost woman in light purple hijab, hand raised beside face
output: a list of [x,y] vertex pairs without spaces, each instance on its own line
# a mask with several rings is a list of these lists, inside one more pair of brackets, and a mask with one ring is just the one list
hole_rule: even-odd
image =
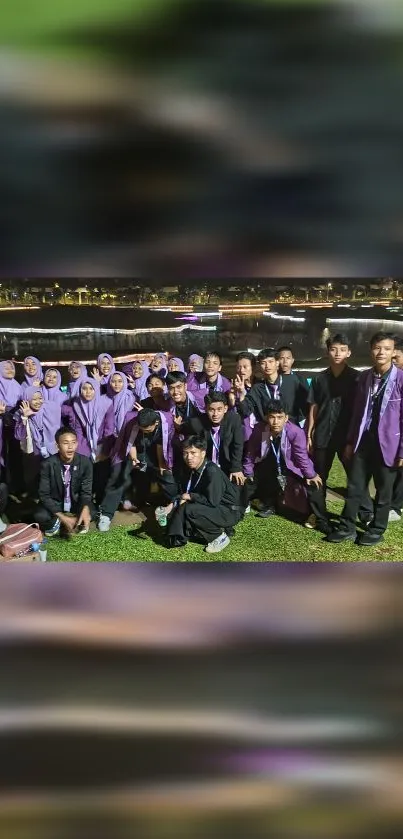
[[23,453],[25,490],[36,496],[41,461],[56,454],[55,434],[61,423],[61,409],[56,402],[45,402],[40,387],[30,387],[26,399],[15,414],[15,439]]

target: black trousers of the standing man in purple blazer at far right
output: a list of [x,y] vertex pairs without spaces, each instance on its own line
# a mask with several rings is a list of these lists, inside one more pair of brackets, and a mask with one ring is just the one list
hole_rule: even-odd
[[340,519],[340,525],[344,529],[355,531],[355,520],[362,495],[373,478],[376,495],[370,531],[377,534],[385,532],[397,471],[391,466],[386,466],[378,437],[365,432],[349,469],[347,499]]

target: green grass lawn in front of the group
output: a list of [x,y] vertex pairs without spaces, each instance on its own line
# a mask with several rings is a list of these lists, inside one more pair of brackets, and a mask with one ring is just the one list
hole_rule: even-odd
[[[330,487],[345,486],[344,472],[335,461]],[[342,502],[328,504],[340,513]],[[154,525],[151,535],[136,533],[141,527],[112,527],[109,533],[89,533],[70,541],[49,539],[48,559],[55,562],[358,562],[362,560],[403,561],[402,525],[388,527],[385,541],[374,548],[358,548],[351,542],[331,545],[320,533],[286,519],[247,515],[236,528],[231,543],[220,554],[206,554],[202,545],[188,544],[168,550],[161,545],[161,531]]]

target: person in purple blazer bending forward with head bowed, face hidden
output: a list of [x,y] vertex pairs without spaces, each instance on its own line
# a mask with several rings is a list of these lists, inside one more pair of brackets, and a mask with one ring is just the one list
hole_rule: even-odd
[[111,452],[112,471],[100,503],[98,528],[106,532],[132,485],[139,509],[152,483],[158,483],[167,499],[175,497],[177,483],[172,474],[174,424],[170,413],[143,408],[129,420]]

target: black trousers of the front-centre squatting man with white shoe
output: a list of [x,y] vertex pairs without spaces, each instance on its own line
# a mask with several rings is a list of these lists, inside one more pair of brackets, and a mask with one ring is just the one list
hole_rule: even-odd
[[197,501],[181,504],[171,514],[168,522],[168,536],[201,538],[204,542],[213,542],[221,533],[238,524],[240,510],[230,507],[208,507]]

